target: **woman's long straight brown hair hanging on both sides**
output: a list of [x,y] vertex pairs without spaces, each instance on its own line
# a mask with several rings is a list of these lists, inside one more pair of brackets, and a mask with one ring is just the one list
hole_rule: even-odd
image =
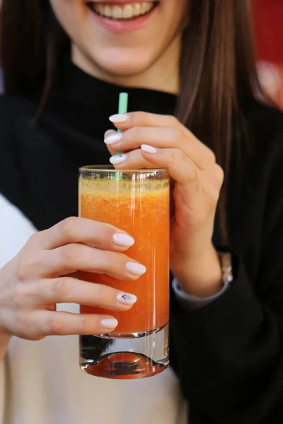
[[[222,228],[232,129],[238,130],[239,147],[246,134],[240,100],[261,93],[250,15],[248,0],[190,0],[190,20],[183,34],[175,115],[212,148],[224,168],[226,184],[219,201]],[[0,40],[6,93],[42,90],[43,105],[59,61],[69,49],[69,38],[49,1],[3,0]],[[248,137],[244,148],[248,149]]]

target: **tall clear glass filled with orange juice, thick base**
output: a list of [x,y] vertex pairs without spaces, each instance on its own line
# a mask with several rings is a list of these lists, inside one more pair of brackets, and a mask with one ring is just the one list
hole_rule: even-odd
[[115,225],[134,237],[127,255],[146,266],[137,281],[81,272],[80,278],[137,296],[131,310],[81,306],[81,313],[111,314],[111,334],[80,337],[80,365],[88,374],[114,379],[150,377],[168,367],[169,175],[167,170],[79,171],[79,216]]

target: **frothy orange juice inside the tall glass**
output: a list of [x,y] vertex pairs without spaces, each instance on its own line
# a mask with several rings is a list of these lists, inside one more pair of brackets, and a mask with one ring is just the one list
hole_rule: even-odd
[[126,312],[81,306],[81,313],[110,314],[115,334],[161,329],[169,319],[169,180],[80,179],[79,216],[115,225],[134,237],[126,254],[146,266],[137,281],[81,272],[81,279],[133,293],[137,302]]

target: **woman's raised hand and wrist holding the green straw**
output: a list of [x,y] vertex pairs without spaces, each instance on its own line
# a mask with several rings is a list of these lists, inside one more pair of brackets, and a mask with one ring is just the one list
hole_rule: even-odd
[[199,297],[217,293],[221,267],[212,234],[224,172],[214,153],[175,117],[132,112],[110,120],[123,131],[105,134],[117,169],[165,167],[173,179],[170,259],[179,285]]

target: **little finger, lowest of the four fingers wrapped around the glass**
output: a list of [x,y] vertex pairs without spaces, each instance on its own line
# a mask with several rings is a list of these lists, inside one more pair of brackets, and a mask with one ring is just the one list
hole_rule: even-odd
[[33,332],[41,336],[107,334],[117,326],[117,319],[104,314],[72,314],[38,310],[33,312]]

